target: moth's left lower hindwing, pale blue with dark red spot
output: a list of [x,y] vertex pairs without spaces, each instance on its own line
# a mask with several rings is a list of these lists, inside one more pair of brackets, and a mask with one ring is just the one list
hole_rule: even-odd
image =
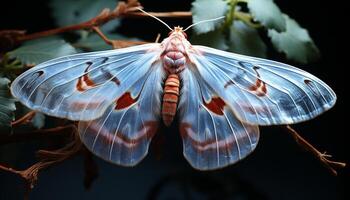
[[85,146],[118,165],[134,166],[140,162],[160,121],[163,78],[161,62],[157,62],[150,72],[130,83],[129,89],[100,118],[79,122]]

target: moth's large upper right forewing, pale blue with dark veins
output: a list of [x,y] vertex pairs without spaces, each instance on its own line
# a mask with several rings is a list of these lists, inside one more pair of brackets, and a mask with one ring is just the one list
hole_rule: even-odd
[[335,104],[330,87],[293,66],[204,46],[193,48],[193,68],[245,122],[297,123]]

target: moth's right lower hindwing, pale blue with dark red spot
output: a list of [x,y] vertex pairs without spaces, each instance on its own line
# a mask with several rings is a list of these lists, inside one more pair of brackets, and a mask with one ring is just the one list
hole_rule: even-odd
[[259,127],[240,121],[203,77],[190,68],[181,73],[179,102],[183,153],[199,170],[233,164],[251,153]]

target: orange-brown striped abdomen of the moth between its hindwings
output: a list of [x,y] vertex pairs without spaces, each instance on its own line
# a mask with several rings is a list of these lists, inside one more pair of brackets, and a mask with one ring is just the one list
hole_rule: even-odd
[[174,120],[179,99],[179,87],[179,76],[170,74],[165,81],[162,104],[162,118],[166,126],[170,126]]

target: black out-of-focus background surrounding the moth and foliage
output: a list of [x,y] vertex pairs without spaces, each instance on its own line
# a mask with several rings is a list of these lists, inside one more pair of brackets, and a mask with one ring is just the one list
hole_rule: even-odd
[[[8,4],[4,4],[7,2]],[[141,1],[148,11],[187,11],[191,2],[186,0]],[[327,150],[335,160],[349,161],[346,129],[346,88],[349,77],[345,62],[348,45],[345,37],[346,15],[339,2],[319,0],[275,0],[284,13],[296,19],[309,30],[322,58],[309,65],[297,65],[329,84],[338,96],[333,109],[320,117],[297,124],[296,128],[320,150]],[[69,5],[67,5],[69,6]],[[54,28],[47,2],[2,1],[1,29],[26,29],[29,32]],[[170,26],[187,26],[190,19],[165,19]],[[343,22],[343,23],[342,23]],[[167,35],[167,29],[153,19],[125,19],[118,32],[154,40],[157,33]],[[344,50],[345,49],[345,50]],[[288,62],[277,53],[270,58]],[[290,63],[290,62],[288,62]],[[292,63],[293,64],[293,63]],[[159,151],[135,168],[123,168],[94,158],[99,177],[90,190],[83,186],[83,158],[77,156],[63,164],[42,172],[31,192],[31,199],[346,199],[348,177],[340,170],[331,175],[309,153],[300,149],[281,127],[261,128],[261,139],[255,152],[236,165],[213,172],[192,169],[182,156],[182,144],[176,125],[158,132]],[[16,160],[19,168],[34,162],[35,142],[15,144],[18,148],[0,147],[7,160]],[[153,145],[155,146],[155,145]],[[39,146],[40,147],[40,146]],[[14,151],[13,149],[17,149]],[[3,162],[4,160],[0,160]],[[24,185],[21,180],[0,172],[0,200],[21,199]],[[349,198],[347,198],[349,199]]]

